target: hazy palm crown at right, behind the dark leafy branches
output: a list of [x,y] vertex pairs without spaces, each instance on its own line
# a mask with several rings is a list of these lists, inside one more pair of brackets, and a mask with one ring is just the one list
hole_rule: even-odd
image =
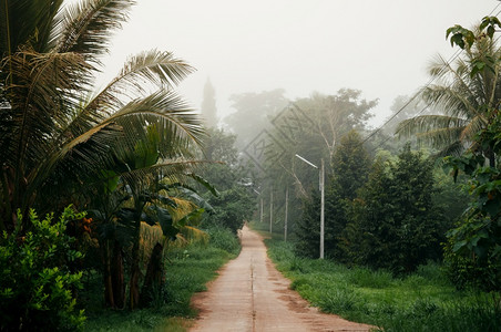
[[[473,136],[489,122],[487,111],[501,101],[501,49],[497,40],[480,33],[477,39],[479,42],[467,46],[452,64],[439,56],[430,65],[436,83],[422,90],[422,98],[441,114],[403,121],[397,128],[400,136],[416,134],[418,141],[439,149],[439,155],[459,155],[473,147]],[[472,75],[477,60],[487,63],[489,70]]]

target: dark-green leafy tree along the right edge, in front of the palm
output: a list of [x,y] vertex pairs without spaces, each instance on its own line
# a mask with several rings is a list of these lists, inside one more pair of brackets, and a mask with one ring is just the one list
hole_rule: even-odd
[[[488,41],[493,39],[500,21],[485,17],[480,31],[485,30]],[[484,44],[485,35],[473,42]],[[461,49],[464,45],[458,43]],[[498,73],[499,56],[480,53],[473,59],[471,76],[489,76]],[[495,74],[495,77],[498,75]],[[473,201],[464,218],[448,232],[446,258],[448,272],[459,287],[474,286],[487,290],[501,290],[501,117],[499,100],[484,103],[477,111],[484,117],[484,125],[476,132],[472,147],[459,157],[447,157],[446,166],[452,168],[454,178],[464,173],[470,177]]]

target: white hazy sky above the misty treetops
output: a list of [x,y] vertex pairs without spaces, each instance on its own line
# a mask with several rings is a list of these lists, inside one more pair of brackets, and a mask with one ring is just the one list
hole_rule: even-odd
[[197,110],[207,77],[219,117],[234,111],[232,94],[284,89],[295,100],[350,87],[379,98],[375,125],[396,96],[428,82],[433,55],[456,52],[447,28],[471,28],[501,10],[497,0],[137,2],[115,34],[105,75],[113,76],[127,55],[156,48],[196,68],[178,92]]

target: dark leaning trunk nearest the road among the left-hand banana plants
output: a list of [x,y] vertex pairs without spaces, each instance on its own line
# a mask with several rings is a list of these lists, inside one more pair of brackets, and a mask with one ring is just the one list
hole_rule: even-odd
[[153,292],[161,289],[164,278],[163,249],[161,243],[153,248],[150,262],[147,263],[146,276],[144,277],[143,289],[141,290],[141,305],[145,307],[153,300]]

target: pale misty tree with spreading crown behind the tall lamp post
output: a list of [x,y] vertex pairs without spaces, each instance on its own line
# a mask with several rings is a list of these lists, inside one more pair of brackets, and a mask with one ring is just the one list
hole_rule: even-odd
[[[275,151],[269,153],[272,158],[265,162],[266,177],[262,191],[269,193],[272,188],[275,190],[280,188],[285,194],[285,188],[294,184],[295,190],[289,190],[296,195],[289,196],[288,229],[293,230],[296,225],[303,222],[299,219],[306,216],[301,214],[301,200],[305,200],[311,190],[318,190],[318,170],[299,160],[295,154],[305,157],[318,167],[320,160],[324,159],[326,175],[329,175],[331,170],[329,162],[339,141],[352,129],[365,129],[367,121],[371,117],[370,110],[376,103],[376,101],[362,98],[360,91],[341,89],[333,95],[316,93],[308,98],[297,100],[294,102],[294,107],[297,107],[296,115],[292,114],[286,121],[282,117],[287,117],[287,115],[282,114],[277,121],[274,121],[275,126],[269,132],[279,142],[269,148]],[[326,184],[328,184],[327,180]],[[284,220],[284,218],[278,218],[282,217],[278,212],[284,211],[283,207],[285,207],[284,194],[274,197],[274,206],[279,209],[276,211],[277,220]],[[297,232],[303,231],[295,231],[295,234]],[[314,247],[316,248],[316,246]]]

